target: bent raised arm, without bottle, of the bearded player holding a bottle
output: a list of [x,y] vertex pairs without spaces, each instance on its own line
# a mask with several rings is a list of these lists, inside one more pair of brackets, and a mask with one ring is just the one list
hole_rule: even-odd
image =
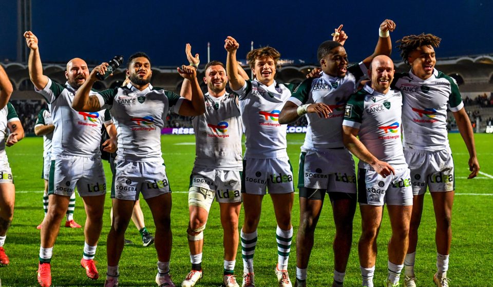
[[192,98],[183,99],[178,114],[182,116],[198,116],[205,113],[204,94],[197,81],[197,68],[193,66],[181,66],[176,68],[180,76],[187,79],[192,89]]

